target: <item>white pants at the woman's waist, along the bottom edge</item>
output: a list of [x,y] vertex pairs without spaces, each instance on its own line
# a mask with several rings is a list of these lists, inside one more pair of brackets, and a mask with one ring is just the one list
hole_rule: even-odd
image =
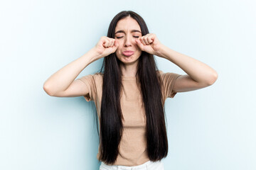
[[145,162],[144,164],[137,166],[122,166],[122,165],[107,165],[102,162],[100,170],[164,170],[164,164],[161,161],[158,162]]

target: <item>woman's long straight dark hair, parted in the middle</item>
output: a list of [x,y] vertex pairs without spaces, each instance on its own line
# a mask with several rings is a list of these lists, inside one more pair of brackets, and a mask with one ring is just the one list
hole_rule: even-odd
[[[134,18],[142,30],[142,36],[149,33],[144,19],[133,11],[121,11],[112,19],[107,37],[114,38],[117,22],[130,16]],[[102,69],[103,87],[100,111],[100,161],[114,164],[117,159],[119,142],[122,137],[122,110],[120,94],[122,90],[122,72],[120,61],[115,53],[104,57]],[[168,140],[166,135],[164,101],[161,94],[161,79],[154,56],[142,51],[137,66],[139,89],[142,93],[146,113],[146,146],[149,159],[153,162],[167,156]]]

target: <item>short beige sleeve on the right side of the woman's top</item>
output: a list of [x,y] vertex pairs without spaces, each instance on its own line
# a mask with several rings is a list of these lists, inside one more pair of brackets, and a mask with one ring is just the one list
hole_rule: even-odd
[[164,94],[164,98],[174,98],[174,96],[177,94],[177,92],[173,91],[174,83],[178,77],[180,77],[182,74],[176,74],[172,72],[162,72],[160,71],[161,81],[162,81],[162,91]]

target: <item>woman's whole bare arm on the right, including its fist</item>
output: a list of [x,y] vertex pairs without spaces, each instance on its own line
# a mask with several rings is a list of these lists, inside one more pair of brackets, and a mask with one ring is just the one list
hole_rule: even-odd
[[210,86],[218,78],[218,74],[214,69],[192,57],[171,50],[161,44],[154,33],[146,34],[138,38],[136,42],[141,50],[163,57],[187,73],[176,79],[173,91],[181,92],[201,89]]

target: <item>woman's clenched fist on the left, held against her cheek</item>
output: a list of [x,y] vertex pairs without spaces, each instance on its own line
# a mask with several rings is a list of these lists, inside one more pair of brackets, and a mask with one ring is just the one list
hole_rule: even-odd
[[95,45],[95,50],[100,57],[106,57],[114,53],[118,46],[118,40],[102,36],[99,42],[97,42],[97,45]]

